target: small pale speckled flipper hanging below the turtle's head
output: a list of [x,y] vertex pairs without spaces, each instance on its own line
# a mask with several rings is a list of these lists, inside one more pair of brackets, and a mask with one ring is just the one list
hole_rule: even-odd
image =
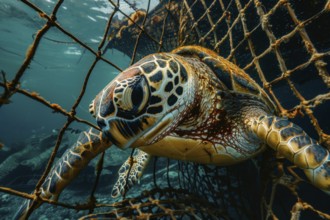
[[120,167],[118,173],[119,177],[113,186],[111,196],[113,198],[119,195],[125,195],[126,192],[139,180],[144,169],[148,165],[150,155],[135,149],[131,157]]

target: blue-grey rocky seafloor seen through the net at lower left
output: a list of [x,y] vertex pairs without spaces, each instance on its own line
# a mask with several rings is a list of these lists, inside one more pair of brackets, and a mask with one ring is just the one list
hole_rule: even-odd
[[[57,133],[58,130],[53,130],[51,134],[35,133],[24,141],[14,143],[10,147],[5,146],[1,149],[0,185],[27,193],[32,192],[51,155],[57,139]],[[69,146],[75,143],[79,133],[76,130],[69,130],[62,140],[57,155],[62,155]],[[111,191],[114,182],[118,178],[118,169],[130,154],[131,149],[123,151],[113,147],[106,151],[102,174],[94,194],[97,203],[111,204],[122,199],[122,197],[113,199],[111,197]],[[96,179],[95,167],[97,162],[98,157],[63,191],[59,199],[60,202],[82,204],[88,201]],[[164,161],[161,163],[164,163]],[[173,165],[171,167],[173,168]],[[167,175],[164,176],[165,172],[165,168],[156,172],[159,187],[166,187]],[[140,182],[127,193],[127,196],[137,197],[143,190],[153,188],[152,173],[153,169],[147,169]],[[177,172],[169,172],[171,180],[175,179],[176,176]],[[23,198],[0,192],[0,219],[12,219],[22,202]],[[106,211],[107,209],[97,209],[97,211],[102,210]],[[88,210],[77,212],[72,209],[43,204],[33,212],[31,219],[78,219],[87,214]]]

